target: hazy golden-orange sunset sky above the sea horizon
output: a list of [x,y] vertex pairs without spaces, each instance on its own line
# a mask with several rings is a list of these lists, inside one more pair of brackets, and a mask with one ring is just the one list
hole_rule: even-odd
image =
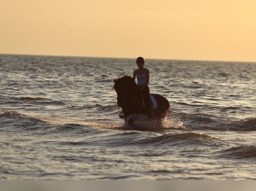
[[0,54],[256,62],[255,0],[2,0]]

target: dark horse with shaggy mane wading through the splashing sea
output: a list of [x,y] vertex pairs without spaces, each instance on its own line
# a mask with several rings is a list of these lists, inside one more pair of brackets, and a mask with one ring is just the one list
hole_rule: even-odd
[[[145,114],[150,118],[159,121],[165,118],[170,106],[169,101],[165,97],[158,94],[151,94],[157,102],[157,107],[148,112],[148,110],[143,107],[140,90],[137,88],[132,77],[123,76],[114,80],[114,82],[113,89],[117,93],[117,105],[122,107],[124,114],[123,116],[119,115],[120,118],[126,119],[130,114]],[[151,106],[152,105],[153,103],[151,101]]]

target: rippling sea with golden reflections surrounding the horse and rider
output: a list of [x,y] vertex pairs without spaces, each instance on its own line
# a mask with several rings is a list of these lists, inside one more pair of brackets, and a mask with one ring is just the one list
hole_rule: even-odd
[[133,126],[136,58],[0,55],[0,179],[256,180],[256,63],[145,59],[170,108]]

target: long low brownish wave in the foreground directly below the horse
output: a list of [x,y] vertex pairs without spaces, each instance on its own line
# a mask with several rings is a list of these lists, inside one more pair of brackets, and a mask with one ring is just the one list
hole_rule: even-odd
[[[93,131],[95,133],[95,130]],[[158,149],[170,147],[174,150],[175,148],[185,148],[186,150],[197,150],[200,152],[203,152],[206,148],[230,148],[234,145],[210,135],[194,132],[169,133],[163,135],[162,132],[145,132],[136,130],[112,131],[106,129],[100,136],[93,136],[93,138],[90,138],[89,142],[97,142],[98,145],[109,145],[113,147],[136,146],[136,148],[155,147]]]

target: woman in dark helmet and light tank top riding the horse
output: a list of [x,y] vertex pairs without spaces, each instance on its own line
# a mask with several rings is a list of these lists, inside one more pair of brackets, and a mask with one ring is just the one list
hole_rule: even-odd
[[149,98],[149,70],[144,68],[145,60],[143,57],[138,57],[136,59],[136,64],[138,69],[134,70],[133,72],[133,80],[135,81],[135,78],[137,77],[137,88],[140,90],[143,100],[145,103],[145,108],[150,110],[150,98]]

